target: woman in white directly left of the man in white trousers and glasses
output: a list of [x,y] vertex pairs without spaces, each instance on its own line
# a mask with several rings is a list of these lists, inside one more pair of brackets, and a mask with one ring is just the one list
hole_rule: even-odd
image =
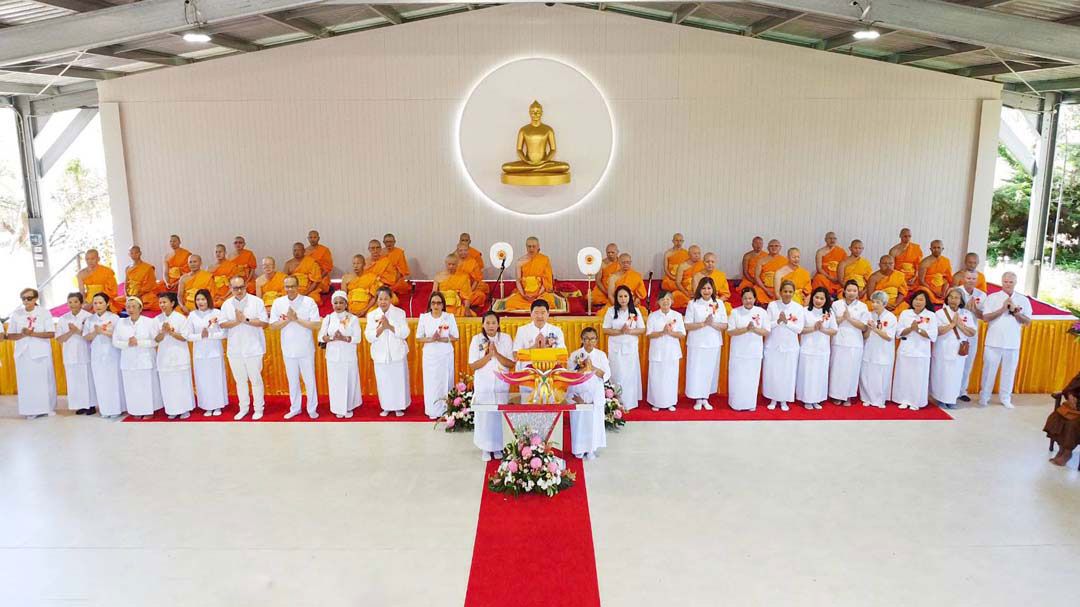
[[203,417],[217,417],[229,404],[229,386],[225,379],[225,329],[221,314],[214,309],[214,296],[208,289],[195,292],[195,309],[188,314],[188,341],[191,341],[191,366],[195,374],[195,394]]

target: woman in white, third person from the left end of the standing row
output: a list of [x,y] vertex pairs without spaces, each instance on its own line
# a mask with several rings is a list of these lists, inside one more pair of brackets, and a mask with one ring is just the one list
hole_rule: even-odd
[[91,296],[94,313],[82,325],[82,336],[90,342],[90,369],[94,374],[94,395],[102,417],[120,417],[126,410],[124,385],[120,375],[120,349],[112,345],[112,332],[120,316],[109,310],[109,296]]

